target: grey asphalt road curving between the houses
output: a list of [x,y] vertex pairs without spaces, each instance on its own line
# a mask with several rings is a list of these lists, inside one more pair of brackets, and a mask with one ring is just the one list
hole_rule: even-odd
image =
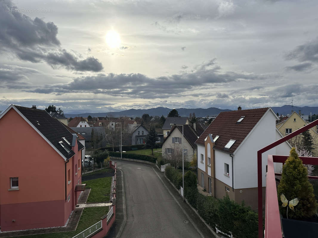
[[127,221],[121,238],[201,237],[148,165],[117,161],[123,171]]

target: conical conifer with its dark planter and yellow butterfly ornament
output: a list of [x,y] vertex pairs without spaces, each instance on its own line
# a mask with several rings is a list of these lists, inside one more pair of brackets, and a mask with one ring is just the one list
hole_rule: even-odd
[[318,204],[307,175],[307,168],[302,164],[295,148],[292,148],[283,165],[280,184],[277,187],[285,238],[317,237]]

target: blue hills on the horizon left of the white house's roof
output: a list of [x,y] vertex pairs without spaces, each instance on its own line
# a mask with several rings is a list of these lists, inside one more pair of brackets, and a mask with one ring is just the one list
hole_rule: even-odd
[[[66,117],[75,117],[75,116],[82,116],[87,117],[91,115],[92,117],[97,116],[142,116],[143,114],[149,114],[149,116],[167,116],[172,109],[164,108],[164,107],[157,107],[157,108],[150,108],[150,109],[128,109],[120,112],[96,112],[96,113],[66,113]],[[231,111],[229,109],[219,109],[219,108],[195,108],[195,109],[188,109],[188,108],[176,108],[180,116],[189,116],[190,113],[195,113],[197,117],[205,117],[209,116],[217,116],[220,112],[224,111]]]

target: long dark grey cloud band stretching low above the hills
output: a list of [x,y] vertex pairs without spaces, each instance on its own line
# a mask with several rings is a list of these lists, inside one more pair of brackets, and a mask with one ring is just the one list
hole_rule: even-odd
[[[73,79],[66,84],[46,85],[43,89],[26,90],[36,93],[78,93],[90,92],[111,96],[133,96],[139,98],[163,98],[181,96],[185,92],[219,83],[230,83],[238,80],[266,79],[266,75],[243,74],[232,71],[221,73],[216,60],[212,59],[198,65],[190,73],[174,74],[151,78],[143,74],[98,74]],[[221,95],[225,96],[225,95]]]

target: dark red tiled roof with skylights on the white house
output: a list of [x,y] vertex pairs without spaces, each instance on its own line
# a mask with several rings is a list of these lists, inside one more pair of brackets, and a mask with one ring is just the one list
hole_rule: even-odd
[[[212,134],[213,138],[219,136],[215,142],[214,149],[232,154],[268,109],[269,108],[258,108],[221,112],[197,139],[196,144],[204,146],[204,139],[209,134]],[[241,116],[245,116],[245,118],[240,123],[237,123]],[[230,149],[225,149],[225,145],[230,140],[235,140],[235,143]]]

